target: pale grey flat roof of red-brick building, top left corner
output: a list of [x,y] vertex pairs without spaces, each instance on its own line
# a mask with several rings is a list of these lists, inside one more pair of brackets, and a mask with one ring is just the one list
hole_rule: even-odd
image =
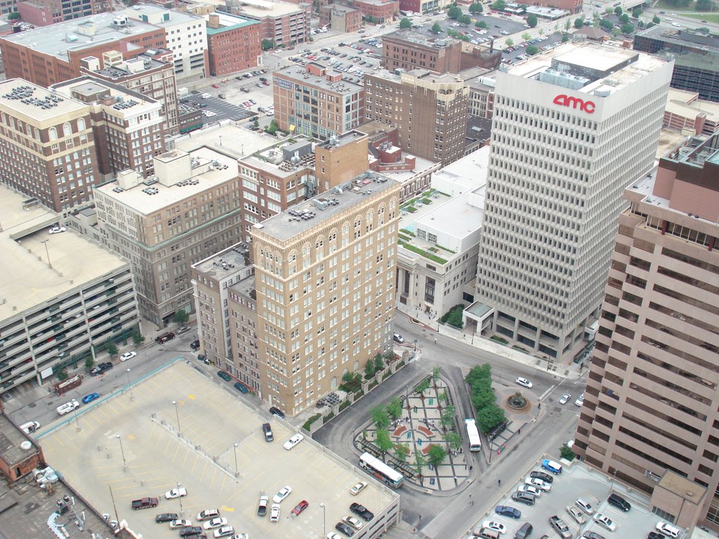
[[[132,19],[125,27],[116,28],[112,25],[112,21],[117,15],[117,12],[101,13],[91,17],[83,17],[82,19],[50,24],[50,26],[27,30],[18,34],[9,34],[0,39],[23,45],[67,62],[68,51],[96,47],[101,43],[124,40],[127,42],[129,50],[139,49],[140,47],[129,43],[132,36],[157,30],[155,24],[148,24],[135,19]],[[81,32],[83,25],[88,34]]]

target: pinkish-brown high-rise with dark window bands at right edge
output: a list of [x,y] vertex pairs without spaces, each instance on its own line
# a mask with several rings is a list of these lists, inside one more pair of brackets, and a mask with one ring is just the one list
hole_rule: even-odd
[[[719,132],[687,139],[624,193],[574,451],[719,530]],[[689,488],[667,497],[667,473]],[[705,499],[700,492],[707,489]],[[654,510],[654,512],[659,512]]]

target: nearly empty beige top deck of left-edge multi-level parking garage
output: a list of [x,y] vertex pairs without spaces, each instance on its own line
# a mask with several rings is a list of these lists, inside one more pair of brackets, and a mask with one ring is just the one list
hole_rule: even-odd
[[26,209],[23,201],[27,199],[0,185],[0,320],[20,316],[24,310],[128,264],[70,229],[48,234],[47,229],[58,222],[58,214],[40,204]]

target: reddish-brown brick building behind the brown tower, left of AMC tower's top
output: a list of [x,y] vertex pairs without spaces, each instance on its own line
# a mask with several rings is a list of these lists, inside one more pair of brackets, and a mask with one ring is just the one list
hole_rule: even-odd
[[382,38],[382,66],[386,70],[416,68],[434,73],[459,73],[462,42],[398,30]]

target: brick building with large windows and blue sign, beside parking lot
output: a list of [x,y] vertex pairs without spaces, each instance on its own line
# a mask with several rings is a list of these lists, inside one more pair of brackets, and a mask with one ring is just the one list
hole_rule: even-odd
[[365,119],[365,89],[324,65],[292,65],[273,73],[275,120],[283,131],[326,140]]

